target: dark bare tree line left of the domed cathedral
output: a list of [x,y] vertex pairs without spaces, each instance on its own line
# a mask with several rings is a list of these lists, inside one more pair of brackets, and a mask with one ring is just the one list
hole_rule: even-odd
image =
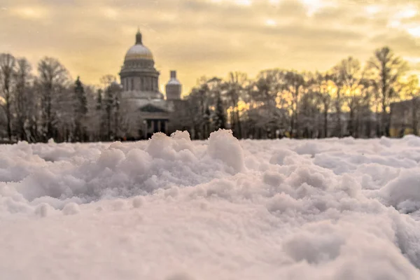
[[44,57],[34,74],[25,58],[0,54],[0,141],[109,141],[124,126],[121,88],[111,75],[101,85],[72,80],[57,59]]

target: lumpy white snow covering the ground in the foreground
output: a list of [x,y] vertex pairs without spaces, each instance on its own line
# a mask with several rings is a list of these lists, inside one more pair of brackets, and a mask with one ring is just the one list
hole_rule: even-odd
[[0,279],[420,279],[417,137],[0,155]]

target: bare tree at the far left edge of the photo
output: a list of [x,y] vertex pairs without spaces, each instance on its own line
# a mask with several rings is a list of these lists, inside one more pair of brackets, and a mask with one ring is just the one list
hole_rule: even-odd
[[8,53],[0,54],[0,87],[4,99],[3,109],[6,113],[7,135],[12,140],[12,90],[15,57]]

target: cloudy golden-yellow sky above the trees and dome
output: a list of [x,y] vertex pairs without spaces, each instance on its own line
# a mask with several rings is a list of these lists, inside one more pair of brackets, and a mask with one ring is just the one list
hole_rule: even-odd
[[420,75],[420,0],[0,0],[0,52],[59,59],[73,78],[118,76],[137,27],[164,90],[201,76],[325,71],[388,45]]

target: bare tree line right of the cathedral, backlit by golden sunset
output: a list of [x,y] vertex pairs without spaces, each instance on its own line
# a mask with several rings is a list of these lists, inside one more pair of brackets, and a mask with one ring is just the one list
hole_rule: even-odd
[[412,100],[412,131],[418,134],[419,80],[406,76],[407,62],[388,47],[362,64],[347,57],[328,71],[260,71],[254,79],[231,72],[228,78],[200,78],[176,118],[206,139],[219,127],[235,137],[389,136],[390,104]]

